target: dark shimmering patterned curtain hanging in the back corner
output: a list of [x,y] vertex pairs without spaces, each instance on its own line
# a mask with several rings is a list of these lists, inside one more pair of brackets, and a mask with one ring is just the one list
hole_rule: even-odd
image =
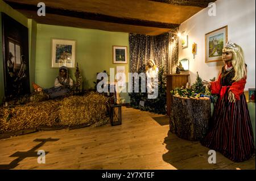
[[142,69],[144,71],[147,60],[152,59],[158,68],[163,66],[164,73],[168,74],[170,60],[172,59],[172,55],[175,54],[170,51],[170,46],[174,42],[171,37],[171,33],[164,33],[158,36],[130,33],[130,72],[140,72],[139,70]]

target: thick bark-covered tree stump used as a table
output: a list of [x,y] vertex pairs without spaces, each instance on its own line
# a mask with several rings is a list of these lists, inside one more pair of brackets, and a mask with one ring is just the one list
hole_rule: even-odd
[[209,98],[181,98],[172,96],[170,131],[190,141],[200,141],[208,131]]

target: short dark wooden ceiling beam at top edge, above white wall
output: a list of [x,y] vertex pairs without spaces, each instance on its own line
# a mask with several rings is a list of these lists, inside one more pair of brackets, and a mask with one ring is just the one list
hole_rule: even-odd
[[196,7],[208,7],[210,2],[215,2],[216,0],[150,0],[155,2],[168,3],[171,5],[179,5],[179,6],[196,6]]

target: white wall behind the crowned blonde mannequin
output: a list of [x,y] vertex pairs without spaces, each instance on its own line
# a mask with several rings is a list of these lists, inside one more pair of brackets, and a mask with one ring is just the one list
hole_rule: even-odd
[[[205,33],[228,25],[228,39],[240,45],[245,53],[247,83],[245,90],[255,88],[255,0],[218,0],[216,16],[209,16],[209,7],[201,10],[180,25],[180,32],[188,33],[188,48],[179,41],[179,60],[189,59],[190,81],[196,81],[196,71],[202,79],[218,77],[220,62],[205,63]],[[197,44],[193,59],[192,44]]]

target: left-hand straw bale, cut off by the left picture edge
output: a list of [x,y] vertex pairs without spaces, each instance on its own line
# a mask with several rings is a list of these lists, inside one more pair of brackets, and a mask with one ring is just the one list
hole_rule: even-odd
[[39,126],[58,125],[59,102],[48,100],[0,108],[0,131],[13,132]]

